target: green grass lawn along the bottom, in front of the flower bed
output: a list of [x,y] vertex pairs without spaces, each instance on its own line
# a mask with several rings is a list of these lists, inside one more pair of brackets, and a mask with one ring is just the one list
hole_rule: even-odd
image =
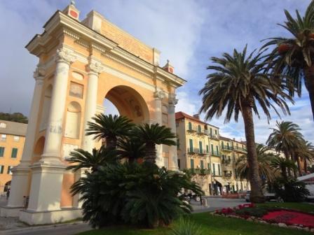
[[[203,230],[206,235],[305,235],[311,234],[296,229],[284,229],[273,225],[264,225],[246,220],[224,218],[210,213],[196,213],[189,215],[191,220]],[[102,230],[83,232],[80,235],[170,235],[169,228],[135,229],[130,227],[108,227]]]

